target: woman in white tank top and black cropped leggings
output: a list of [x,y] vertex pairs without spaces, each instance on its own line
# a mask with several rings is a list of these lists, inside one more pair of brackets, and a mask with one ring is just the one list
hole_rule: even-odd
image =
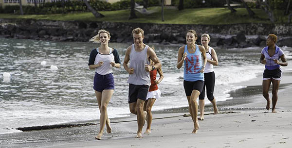
[[210,36],[209,34],[201,35],[201,44],[206,49],[207,63],[204,70],[204,87],[199,96],[199,108],[201,116],[198,118],[199,120],[204,120],[204,107],[205,107],[205,89],[207,92],[207,98],[213,105],[214,114],[218,113],[218,108],[216,104],[216,99],[213,96],[214,86],[215,86],[215,73],[213,65],[218,66],[218,58],[215,52],[215,49],[209,46]]

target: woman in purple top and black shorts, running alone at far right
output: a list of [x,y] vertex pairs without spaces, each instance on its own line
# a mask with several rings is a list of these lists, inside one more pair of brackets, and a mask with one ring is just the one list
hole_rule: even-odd
[[[282,71],[280,66],[288,66],[284,52],[278,46],[276,46],[277,36],[275,34],[269,34],[267,37],[267,47],[261,51],[261,57],[259,62],[265,65],[265,71],[263,73],[263,96],[267,100],[266,109],[270,110],[271,99],[269,97],[269,88],[271,82],[273,83],[272,89],[272,113],[276,113],[275,106],[278,100],[278,89],[281,81]],[[281,58],[281,61],[279,59]]]

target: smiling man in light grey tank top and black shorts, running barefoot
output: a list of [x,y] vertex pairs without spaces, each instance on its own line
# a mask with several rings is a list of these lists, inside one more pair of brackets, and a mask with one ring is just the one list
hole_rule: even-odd
[[[123,65],[129,73],[128,103],[130,112],[137,115],[138,131],[136,138],[142,138],[142,129],[147,115],[143,111],[143,106],[150,86],[149,71],[160,68],[161,63],[154,50],[143,43],[144,31],[141,28],[134,29],[132,35],[134,44],[126,50]],[[154,66],[149,65],[148,58],[155,63]],[[130,62],[129,66],[128,62]]]

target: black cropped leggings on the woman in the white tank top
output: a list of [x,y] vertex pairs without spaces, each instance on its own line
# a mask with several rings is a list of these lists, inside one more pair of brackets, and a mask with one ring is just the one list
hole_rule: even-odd
[[199,96],[199,99],[205,99],[205,87],[207,89],[207,98],[212,101],[214,99],[214,86],[215,86],[215,72],[204,73],[204,86]]

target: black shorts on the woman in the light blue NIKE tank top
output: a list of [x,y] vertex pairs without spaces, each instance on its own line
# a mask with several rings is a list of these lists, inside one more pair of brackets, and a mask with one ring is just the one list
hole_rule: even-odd
[[186,96],[191,96],[193,90],[198,90],[201,93],[203,86],[204,82],[201,80],[194,82],[183,80],[183,88]]

